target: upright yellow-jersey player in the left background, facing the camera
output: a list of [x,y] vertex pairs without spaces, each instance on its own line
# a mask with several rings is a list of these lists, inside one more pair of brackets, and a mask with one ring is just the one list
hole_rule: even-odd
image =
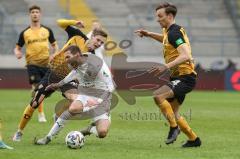
[[[53,52],[57,51],[58,46],[54,38],[53,32],[50,28],[41,25],[41,9],[39,6],[32,6],[29,8],[31,24],[24,29],[19,36],[14,53],[18,59],[21,59],[23,54],[21,48],[26,47],[26,67],[29,76],[29,83],[32,85],[33,92],[38,83],[43,78],[48,70],[49,64],[49,43],[53,48]],[[38,107],[39,122],[46,122],[43,112],[43,103]]]

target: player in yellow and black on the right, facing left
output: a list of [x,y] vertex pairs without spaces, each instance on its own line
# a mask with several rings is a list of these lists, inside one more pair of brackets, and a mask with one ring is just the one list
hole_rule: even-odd
[[179,114],[180,105],[185,95],[191,92],[196,84],[196,72],[194,71],[191,46],[185,30],[175,24],[177,7],[164,2],[156,8],[157,21],[163,28],[162,34],[147,30],[136,30],[140,37],[149,37],[163,44],[165,66],[156,66],[149,70],[155,76],[167,69],[170,70],[170,82],[157,89],[154,93],[154,101],[167,118],[170,131],[165,141],[173,143],[180,130],[187,135],[188,140],[182,147],[198,147],[200,138],[193,132],[187,121]]

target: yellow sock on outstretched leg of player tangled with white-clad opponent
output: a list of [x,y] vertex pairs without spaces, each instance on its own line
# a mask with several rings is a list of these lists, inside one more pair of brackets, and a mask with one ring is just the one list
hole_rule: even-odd
[[32,114],[34,112],[35,109],[33,109],[30,105],[28,105],[24,112],[23,112],[23,117],[19,123],[19,130],[23,130],[25,128],[25,126],[27,125],[28,121],[31,119]]

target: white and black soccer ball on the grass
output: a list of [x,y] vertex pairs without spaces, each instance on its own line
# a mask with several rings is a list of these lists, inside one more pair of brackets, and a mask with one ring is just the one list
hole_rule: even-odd
[[81,132],[71,131],[67,134],[65,142],[68,148],[78,149],[83,147],[85,138]]

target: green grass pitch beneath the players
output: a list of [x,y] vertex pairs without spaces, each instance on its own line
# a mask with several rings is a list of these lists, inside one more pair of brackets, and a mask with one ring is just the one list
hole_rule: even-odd
[[105,139],[87,137],[82,149],[71,150],[64,138],[90,121],[70,121],[58,137],[47,146],[33,145],[34,136],[44,136],[53,124],[54,104],[61,99],[55,93],[45,100],[47,123],[37,122],[37,113],[27,125],[22,141],[12,142],[23,109],[30,100],[30,91],[1,90],[0,118],[4,141],[14,150],[0,150],[0,159],[238,159],[240,158],[240,94],[239,92],[190,93],[181,108],[192,129],[201,137],[200,148],[182,149],[186,136],[181,133],[172,145],[165,145],[166,121],[151,97],[138,97],[134,106],[120,99],[112,111],[112,125]]

